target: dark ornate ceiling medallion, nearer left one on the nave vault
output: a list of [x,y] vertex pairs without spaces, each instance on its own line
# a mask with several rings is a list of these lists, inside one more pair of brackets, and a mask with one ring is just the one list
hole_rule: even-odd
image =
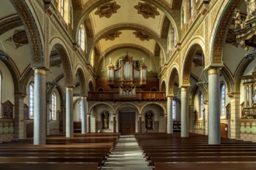
[[105,16],[109,18],[113,13],[116,13],[116,10],[120,8],[120,5],[116,5],[116,2],[109,2],[104,5],[100,5],[95,12],[95,15],[99,15],[99,18]]

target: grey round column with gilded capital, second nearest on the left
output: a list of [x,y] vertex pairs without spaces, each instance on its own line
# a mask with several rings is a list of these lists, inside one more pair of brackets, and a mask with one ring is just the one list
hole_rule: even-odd
[[66,87],[66,137],[74,137],[73,87]]

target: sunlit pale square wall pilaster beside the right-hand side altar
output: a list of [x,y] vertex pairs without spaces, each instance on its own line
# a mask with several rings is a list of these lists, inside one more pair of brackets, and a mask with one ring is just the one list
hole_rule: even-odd
[[240,93],[229,93],[230,97],[230,138],[240,140]]

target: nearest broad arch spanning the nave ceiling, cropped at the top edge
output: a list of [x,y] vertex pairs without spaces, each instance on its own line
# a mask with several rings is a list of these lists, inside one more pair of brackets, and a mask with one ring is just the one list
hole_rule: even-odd
[[[79,12],[77,15],[74,16],[74,37],[78,37],[78,30],[81,23],[88,17],[90,12],[92,12],[95,8],[98,6],[105,4],[106,2],[110,2],[112,0],[91,0],[88,1],[84,6],[83,10]],[[181,30],[181,24],[180,24],[180,12],[178,10],[172,10],[171,5],[168,4],[168,2],[165,1],[155,1],[155,0],[142,0],[144,2],[148,2],[152,5],[155,5],[157,8],[159,8],[161,11],[164,12],[164,15],[168,17],[171,24],[175,28],[175,32],[177,32],[177,39],[179,39],[180,32],[178,30]],[[178,17],[177,17],[178,16]]]

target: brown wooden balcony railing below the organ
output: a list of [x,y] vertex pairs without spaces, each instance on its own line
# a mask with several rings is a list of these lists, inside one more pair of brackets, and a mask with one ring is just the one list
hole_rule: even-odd
[[166,100],[165,92],[143,91],[134,96],[120,96],[119,92],[88,92],[88,100]]

